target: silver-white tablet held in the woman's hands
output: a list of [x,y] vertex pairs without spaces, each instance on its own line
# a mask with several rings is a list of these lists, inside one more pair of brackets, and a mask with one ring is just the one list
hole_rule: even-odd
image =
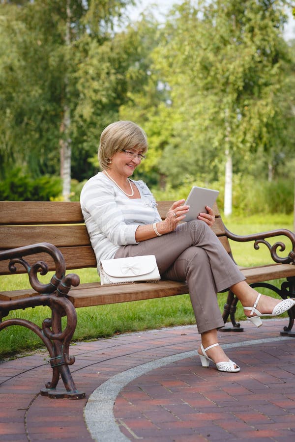
[[207,213],[206,206],[212,208],[219,191],[193,186],[184,205],[190,206],[183,221],[196,220],[200,213]]

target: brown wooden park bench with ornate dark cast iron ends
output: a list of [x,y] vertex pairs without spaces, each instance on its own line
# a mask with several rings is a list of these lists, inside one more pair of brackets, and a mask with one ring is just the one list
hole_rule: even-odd
[[[171,204],[171,201],[158,202],[163,219]],[[295,234],[279,229],[247,236],[234,235],[224,226],[216,204],[214,212],[216,221],[212,228],[232,258],[229,240],[253,241],[255,249],[259,249],[260,244],[269,249],[272,264],[241,269],[247,282],[253,287],[269,288],[283,299],[294,297]],[[53,398],[85,397],[83,392],[77,390],[69,370],[69,365],[75,360],[69,356],[69,345],[76,328],[76,308],[188,293],[185,282],[160,280],[152,284],[141,282],[101,286],[100,282],[79,284],[76,274],[65,275],[66,270],[96,267],[79,202],[0,201],[0,214],[0,275],[28,273],[32,287],[9,292],[0,288],[0,331],[11,325],[21,325],[34,331],[46,345],[52,380],[41,390],[43,395]],[[277,242],[271,246],[268,239],[275,237],[278,237]],[[284,257],[278,255],[278,249]],[[38,272],[46,275],[47,271],[54,271],[54,276],[47,284],[39,282]],[[280,288],[267,282],[280,278],[284,278]],[[237,299],[229,292],[223,318],[226,322],[230,316],[233,327],[225,327],[224,330],[242,330],[235,321],[236,304]],[[51,318],[44,319],[42,328],[25,319],[2,321],[11,310],[37,305],[47,305],[52,312]],[[289,310],[289,325],[281,334],[295,336],[292,332],[294,310],[295,307]],[[62,330],[63,316],[67,321]],[[62,390],[56,388],[60,377],[65,387]]]

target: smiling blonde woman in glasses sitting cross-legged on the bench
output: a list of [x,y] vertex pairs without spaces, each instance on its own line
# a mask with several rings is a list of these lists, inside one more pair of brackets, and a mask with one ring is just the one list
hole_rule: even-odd
[[[143,181],[129,179],[145,159],[145,132],[131,121],[117,121],[101,134],[98,160],[102,172],[89,179],[81,192],[81,208],[97,265],[102,259],[155,255],[163,279],[187,281],[196,323],[201,333],[198,353],[202,366],[209,361],[220,371],[237,372],[217,342],[224,326],[217,292],[230,289],[257,327],[261,316],[277,316],[295,305],[295,299],[279,301],[260,295],[245,281],[210,226],[214,214],[180,222],[189,207],[176,201],[161,220],[156,202]],[[99,271],[99,270],[98,270]]]

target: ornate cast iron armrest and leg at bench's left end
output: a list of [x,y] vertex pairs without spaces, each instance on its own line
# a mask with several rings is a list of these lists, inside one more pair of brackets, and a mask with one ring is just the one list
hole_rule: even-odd
[[[52,276],[48,284],[42,284],[37,277],[38,272],[41,275],[47,274],[47,264],[38,261],[30,266],[24,259],[24,256],[41,252],[49,254],[55,262],[55,275]],[[45,389],[41,390],[41,394],[53,398],[84,398],[85,393],[77,390],[69,370],[69,365],[72,365],[75,361],[73,356],[69,356],[69,345],[76,329],[77,313],[73,304],[65,296],[71,285],[79,285],[79,276],[75,274],[65,276],[66,268],[63,255],[59,249],[49,243],[2,250],[0,251],[0,260],[9,260],[8,267],[12,273],[16,272],[16,264],[24,266],[28,272],[31,287],[38,292],[29,298],[0,301],[0,331],[13,325],[27,327],[36,333],[46,345],[50,355],[52,380],[46,384]],[[2,321],[2,318],[7,316],[10,310],[25,309],[37,305],[47,305],[52,312],[51,319],[44,319],[42,329],[26,319],[11,318]],[[61,322],[63,316],[66,316],[67,320],[64,330],[62,330]],[[65,387],[62,390],[56,388],[59,378],[62,379]]]

